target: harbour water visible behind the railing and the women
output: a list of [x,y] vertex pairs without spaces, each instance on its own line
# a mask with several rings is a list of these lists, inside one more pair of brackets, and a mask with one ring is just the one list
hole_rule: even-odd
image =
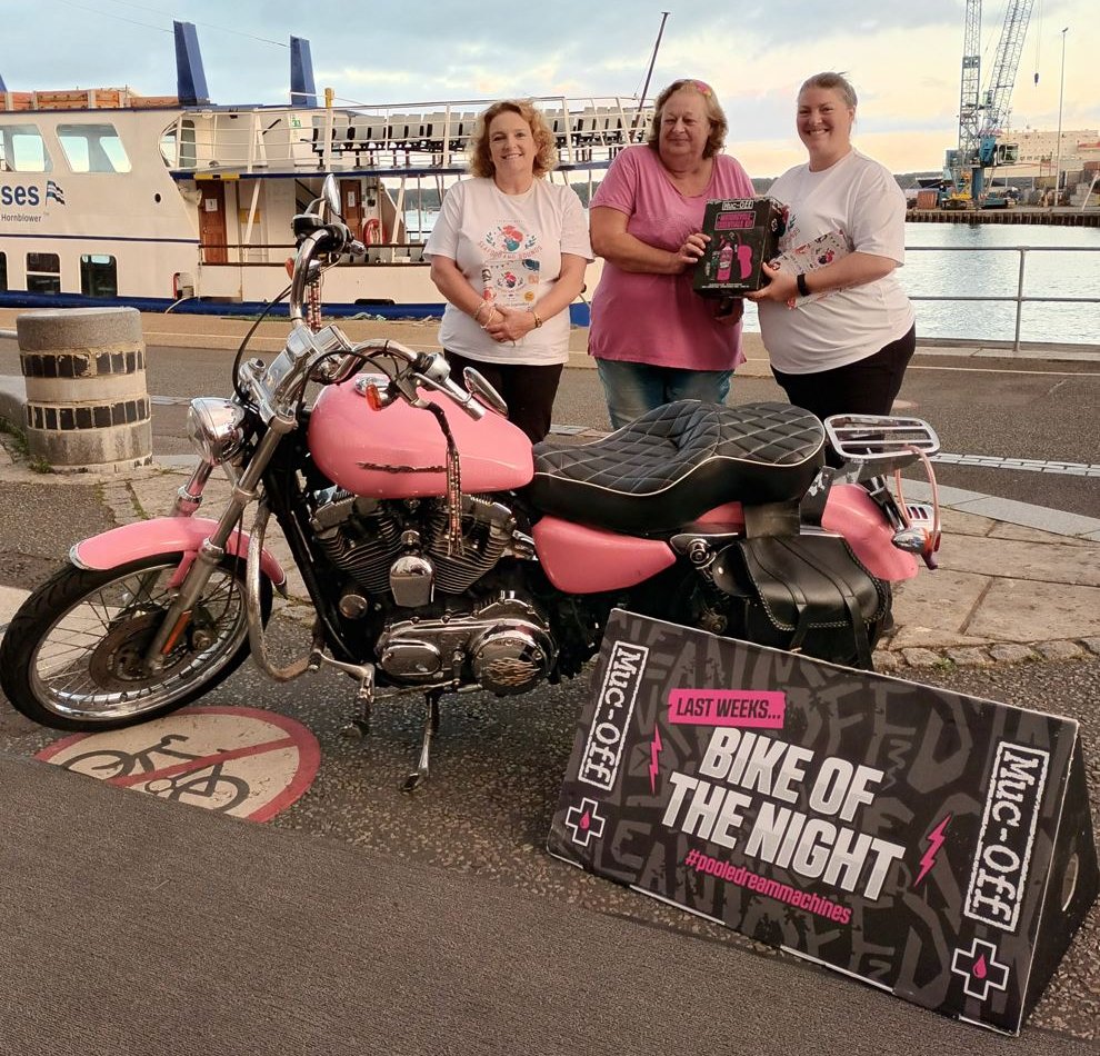
[[[426,237],[434,216],[421,215]],[[409,226],[417,227],[417,213]],[[1023,297],[1094,298],[1093,303],[1027,301],[1020,340],[1100,345],[1100,228],[999,223],[907,223],[906,266],[898,272],[913,298],[921,338],[1012,341],[1014,300],[924,300],[966,297],[1016,298],[1023,253]],[[744,328],[759,331],[748,305]]]

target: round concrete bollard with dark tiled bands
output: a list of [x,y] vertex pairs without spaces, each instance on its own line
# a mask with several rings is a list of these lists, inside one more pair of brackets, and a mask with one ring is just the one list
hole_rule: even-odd
[[27,442],[56,469],[120,472],[152,461],[141,316],[70,308],[17,317]]

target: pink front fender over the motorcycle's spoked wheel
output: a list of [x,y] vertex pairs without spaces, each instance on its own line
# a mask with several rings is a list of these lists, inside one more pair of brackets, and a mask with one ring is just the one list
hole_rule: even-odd
[[[218,526],[209,517],[154,517],[122,525],[77,542],[69,550],[69,560],[77,568],[106,571],[128,565],[143,557],[182,551],[188,555],[190,567],[194,555]],[[226,542],[226,551],[238,557],[248,556],[248,532],[234,531]],[[264,548],[260,568],[272,586],[286,594],[287,574],[282,566]]]

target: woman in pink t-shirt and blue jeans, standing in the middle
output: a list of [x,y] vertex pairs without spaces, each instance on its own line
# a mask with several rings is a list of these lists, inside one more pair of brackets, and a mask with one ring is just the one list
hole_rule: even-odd
[[677,399],[726,400],[741,352],[743,302],[691,288],[702,257],[707,202],[751,198],[728,155],[726,114],[702,81],[673,81],[657,97],[646,146],[628,147],[592,198],[592,249],[603,276],[592,297],[596,357],[614,428]]

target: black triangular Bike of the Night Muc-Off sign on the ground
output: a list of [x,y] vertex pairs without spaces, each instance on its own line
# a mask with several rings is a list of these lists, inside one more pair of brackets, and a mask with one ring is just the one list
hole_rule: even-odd
[[1076,723],[621,611],[550,850],[1009,1033],[1098,889]]

